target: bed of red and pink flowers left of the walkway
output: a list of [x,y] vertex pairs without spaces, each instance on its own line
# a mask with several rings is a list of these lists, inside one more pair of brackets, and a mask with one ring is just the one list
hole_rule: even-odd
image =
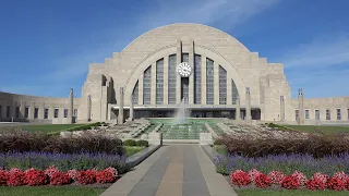
[[0,170],[0,186],[40,186],[52,185],[60,186],[71,183],[94,184],[112,183],[118,179],[118,170],[107,168],[104,170],[69,170],[60,171],[55,166],[46,170],[27,169],[22,171],[19,168],[11,170]]

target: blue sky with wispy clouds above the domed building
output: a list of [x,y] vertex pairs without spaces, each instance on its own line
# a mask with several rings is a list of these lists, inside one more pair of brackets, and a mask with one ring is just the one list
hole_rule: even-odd
[[88,63],[143,33],[202,23],[285,64],[297,97],[349,96],[348,0],[0,0],[0,90],[76,96]]

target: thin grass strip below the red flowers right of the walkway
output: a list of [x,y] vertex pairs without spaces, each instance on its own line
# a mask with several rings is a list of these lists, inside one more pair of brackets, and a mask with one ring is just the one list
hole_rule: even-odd
[[236,189],[239,196],[347,196],[349,192],[336,192],[336,191],[308,191],[308,189]]

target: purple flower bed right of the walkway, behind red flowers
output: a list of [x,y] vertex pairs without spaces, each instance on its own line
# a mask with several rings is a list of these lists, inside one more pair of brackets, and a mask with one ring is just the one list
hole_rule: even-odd
[[250,171],[256,169],[263,173],[280,171],[290,174],[294,170],[302,171],[308,177],[316,172],[332,175],[337,171],[349,173],[349,154],[341,156],[326,156],[314,158],[311,155],[269,155],[264,157],[249,158],[238,155],[219,155],[215,157],[214,163],[217,172],[230,174],[231,171]]

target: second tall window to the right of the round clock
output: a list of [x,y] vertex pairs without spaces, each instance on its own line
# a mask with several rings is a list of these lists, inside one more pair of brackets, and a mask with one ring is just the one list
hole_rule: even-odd
[[206,59],[206,105],[214,105],[214,61]]

